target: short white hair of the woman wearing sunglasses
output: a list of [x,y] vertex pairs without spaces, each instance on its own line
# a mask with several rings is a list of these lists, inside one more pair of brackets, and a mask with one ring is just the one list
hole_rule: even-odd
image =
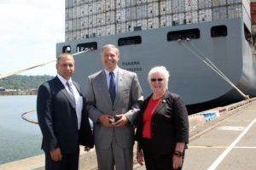
[[148,72],[148,83],[150,84],[150,79],[151,76],[154,73],[160,73],[160,75],[163,76],[164,80],[165,80],[165,86],[166,89],[168,89],[168,82],[169,82],[169,71],[167,71],[166,67],[163,65],[159,65],[159,66],[154,66],[149,72]]

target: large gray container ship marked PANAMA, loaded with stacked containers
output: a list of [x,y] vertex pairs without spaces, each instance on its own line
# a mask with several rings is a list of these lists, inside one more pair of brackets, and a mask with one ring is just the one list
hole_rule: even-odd
[[83,86],[112,43],[144,96],[148,71],[166,66],[168,88],[189,114],[256,96],[256,3],[249,0],[66,0],[65,20],[56,56],[89,49],[75,57],[73,79]]

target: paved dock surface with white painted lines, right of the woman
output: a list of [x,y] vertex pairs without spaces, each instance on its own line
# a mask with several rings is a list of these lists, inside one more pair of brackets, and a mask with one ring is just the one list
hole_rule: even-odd
[[256,103],[241,107],[189,143],[183,170],[256,169]]

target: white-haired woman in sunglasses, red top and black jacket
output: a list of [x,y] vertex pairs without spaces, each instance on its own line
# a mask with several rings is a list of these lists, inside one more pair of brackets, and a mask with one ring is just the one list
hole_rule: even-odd
[[181,169],[189,143],[188,112],[183,100],[168,88],[169,72],[156,66],[148,73],[152,94],[137,116],[137,161],[147,170]]

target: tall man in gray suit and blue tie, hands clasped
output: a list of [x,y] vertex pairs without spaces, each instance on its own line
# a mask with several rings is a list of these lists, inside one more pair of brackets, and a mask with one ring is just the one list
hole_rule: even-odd
[[137,74],[118,67],[119,49],[102,48],[104,70],[88,77],[85,97],[100,170],[132,169],[133,122],[143,102]]

